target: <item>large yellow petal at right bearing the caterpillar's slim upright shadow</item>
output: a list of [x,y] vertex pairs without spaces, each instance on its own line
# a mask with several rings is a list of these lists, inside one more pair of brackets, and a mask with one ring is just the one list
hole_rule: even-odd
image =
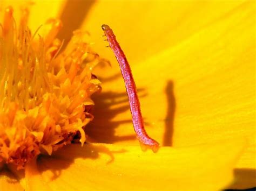
[[[255,177],[250,176],[256,169],[254,15],[253,2],[246,1],[227,9],[226,14],[176,46],[145,61],[131,62],[146,129],[162,145],[248,139],[248,147],[235,169],[237,182],[233,188],[256,186]],[[190,24],[197,22],[190,20]],[[123,27],[116,26],[119,43],[130,44],[133,39],[122,40],[118,30]],[[130,35],[130,31],[126,33]],[[142,41],[136,46],[140,44]],[[136,46],[134,51],[140,53]],[[147,47],[150,48],[154,47]],[[130,60],[130,55],[127,57]],[[116,61],[112,65],[118,66]],[[97,142],[137,145],[123,79],[119,73],[107,77],[103,93],[96,99],[95,121],[87,132]]]

